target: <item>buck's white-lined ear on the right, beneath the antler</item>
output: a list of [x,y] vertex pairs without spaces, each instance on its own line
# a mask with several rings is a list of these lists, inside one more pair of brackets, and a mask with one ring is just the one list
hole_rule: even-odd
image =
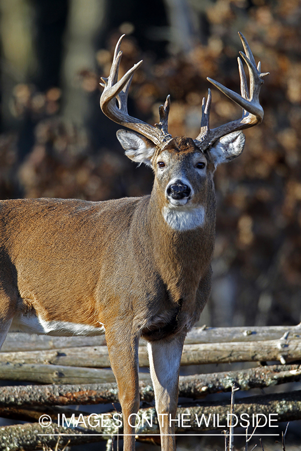
[[215,167],[227,163],[241,154],[244,148],[245,135],[236,131],[220,138],[210,149]]

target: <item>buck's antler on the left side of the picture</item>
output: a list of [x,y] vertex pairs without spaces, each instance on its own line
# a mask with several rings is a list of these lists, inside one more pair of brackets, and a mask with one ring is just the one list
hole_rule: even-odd
[[[163,148],[172,136],[168,133],[168,114],[170,109],[170,96],[167,97],[165,105],[159,108],[160,122],[152,125],[146,124],[139,119],[129,116],[127,112],[127,95],[133,78],[134,72],[141,66],[142,60],[129,69],[123,77],[118,80],[119,64],[122,57],[120,51],[121,41],[125,35],[122,35],[115,47],[114,58],[110,75],[108,78],[101,78],[103,83],[103,93],[100,97],[100,108],[103,113],[117,124],[135,130],[146,138],[150,139],[154,144]],[[116,100],[118,101],[118,106]]]

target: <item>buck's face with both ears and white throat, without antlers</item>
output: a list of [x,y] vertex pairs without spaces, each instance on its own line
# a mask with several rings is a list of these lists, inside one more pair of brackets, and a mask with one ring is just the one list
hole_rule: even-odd
[[153,168],[158,206],[177,231],[204,225],[206,211],[215,203],[213,173],[217,164],[235,158],[244,146],[241,132],[226,135],[204,151],[186,137],[171,139],[163,149],[126,130],[119,130],[117,138],[131,160]]

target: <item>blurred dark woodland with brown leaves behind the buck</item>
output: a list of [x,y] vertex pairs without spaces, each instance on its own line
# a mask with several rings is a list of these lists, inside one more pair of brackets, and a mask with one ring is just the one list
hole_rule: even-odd
[[[123,74],[143,59],[129,113],[154,124],[171,94],[173,136],[199,133],[206,77],[239,91],[237,31],[262,71],[265,116],[215,174],[210,326],[301,318],[301,2],[299,0],[0,0],[0,198],[104,200],[150,192],[101,113],[115,43]],[[241,111],[213,88],[211,125]]]

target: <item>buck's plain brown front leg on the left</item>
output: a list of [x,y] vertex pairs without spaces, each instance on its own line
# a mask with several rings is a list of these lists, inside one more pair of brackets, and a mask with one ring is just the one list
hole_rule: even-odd
[[123,450],[135,449],[135,414],[140,405],[138,380],[138,336],[106,329],[106,341],[113,373],[118,386],[118,398],[123,416]]

